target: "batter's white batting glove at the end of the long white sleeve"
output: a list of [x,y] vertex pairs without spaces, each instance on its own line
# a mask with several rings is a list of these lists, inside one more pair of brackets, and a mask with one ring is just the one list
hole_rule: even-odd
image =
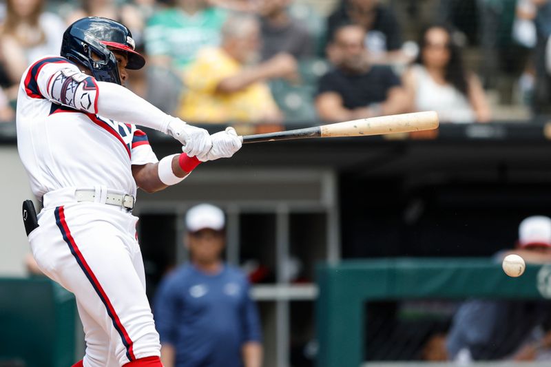
[[182,143],[182,151],[189,157],[205,156],[212,147],[212,139],[207,130],[187,125],[180,118],[169,122],[167,134]]

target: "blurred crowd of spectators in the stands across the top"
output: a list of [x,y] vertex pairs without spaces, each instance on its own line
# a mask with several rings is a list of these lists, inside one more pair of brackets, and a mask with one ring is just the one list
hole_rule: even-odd
[[147,56],[127,86],[194,123],[551,111],[548,0],[5,0],[0,120],[25,68],[86,16],[125,23]]

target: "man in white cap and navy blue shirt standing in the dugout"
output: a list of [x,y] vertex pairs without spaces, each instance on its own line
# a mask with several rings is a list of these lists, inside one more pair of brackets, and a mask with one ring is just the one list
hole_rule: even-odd
[[167,275],[154,300],[164,366],[260,367],[260,322],[249,282],[220,258],[224,213],[197,205],[186,224],[191,263]]

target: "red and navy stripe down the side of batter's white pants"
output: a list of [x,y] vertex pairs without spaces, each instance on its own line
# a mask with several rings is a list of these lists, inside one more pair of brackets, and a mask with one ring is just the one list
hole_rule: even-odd
[[103,302],[103,304],[105,305],[107,315],[109,315],[118,335],[121,335],[121,339],[123,340],[123,344],[126,348],[126,357],[129,359],[129,361],[136,360],[136,356],[134,355],[134,343],[132,342],[132,339],[130,339],[125,327],[121,323],[121,319],[119,319],[118,315],[116,314],[113,305],[111,304],[109,298],[107,297],[107,294],[105,294],[105,291],[103,290],[103,287],[101,286],[101,284],[99,284],[96,275],[94,275],[94,272],[92,271],[92,269],[90,269],[90,266],[86,262],[79,247],[74,241],[71,231],[67,226],[67,222],[65,222],[65,211],[63,207],[56,207],[54,215],[56,218],[57,227],[59,228],[59,231],[61,231],[61,235],[63,235],[63,240],[65,240],[65,243],[67,243],[67,246],[69,246],[69,249],[74,256],[76,262],[79,264],[83,273],[92,284],[92,287],[96,291],[98,297],[100,297],[101,302]]

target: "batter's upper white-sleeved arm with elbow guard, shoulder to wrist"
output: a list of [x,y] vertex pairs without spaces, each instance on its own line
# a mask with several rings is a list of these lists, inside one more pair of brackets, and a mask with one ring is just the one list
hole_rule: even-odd
[[122,85],[96,81],[60,56],[32,64],[23,76],[22,87],[31,98],[47,98],[83,112],[167,133],[174,117],[137,96]]

